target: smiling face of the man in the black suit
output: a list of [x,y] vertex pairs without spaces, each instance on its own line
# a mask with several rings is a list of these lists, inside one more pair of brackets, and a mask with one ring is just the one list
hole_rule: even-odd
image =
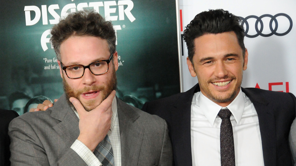
[[192,77],[197,76],[200,91],[220,106],[228,106],[238,95],[248,52],[243,57],[234,32],[205,34],[194,40],[193,64],[187,57]]

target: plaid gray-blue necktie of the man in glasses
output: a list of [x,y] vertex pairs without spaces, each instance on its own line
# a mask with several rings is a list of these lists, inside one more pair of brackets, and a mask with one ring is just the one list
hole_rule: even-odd
[[94,155],[96,155],[103,166],[114,166],[113,150],[108,135],[98,144],[94,150]]

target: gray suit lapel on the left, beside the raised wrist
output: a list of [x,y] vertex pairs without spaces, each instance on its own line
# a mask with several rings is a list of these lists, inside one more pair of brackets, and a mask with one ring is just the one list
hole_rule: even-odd
[[54,104],[51,116],[61,121],[53,126],[53,128],[64,140],[65,144],[68,144],[70,147],[79,136],[79,119],[71,107],[66,103],[67,99],[65,94],[63,94]]

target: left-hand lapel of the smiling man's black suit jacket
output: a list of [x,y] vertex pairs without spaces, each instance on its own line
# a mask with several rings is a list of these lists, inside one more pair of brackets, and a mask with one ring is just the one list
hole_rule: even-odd
[[192,165],[191,155],[191,103],[194,93],[200,91],[196,84],[190,90],[181,93],[172,107],[171,140],[174,151],[175,165]]

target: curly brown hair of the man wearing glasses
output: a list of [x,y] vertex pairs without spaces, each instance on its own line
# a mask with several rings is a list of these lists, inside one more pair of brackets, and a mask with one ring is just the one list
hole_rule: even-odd
[[61,61],[60,46],[71,36],[94,36],[106,39],[110,55],[116,49],[116,36],[113,25],[95,11],[77,11],[70,13],[65,19],[52,28],[50,41],[57,59]]

